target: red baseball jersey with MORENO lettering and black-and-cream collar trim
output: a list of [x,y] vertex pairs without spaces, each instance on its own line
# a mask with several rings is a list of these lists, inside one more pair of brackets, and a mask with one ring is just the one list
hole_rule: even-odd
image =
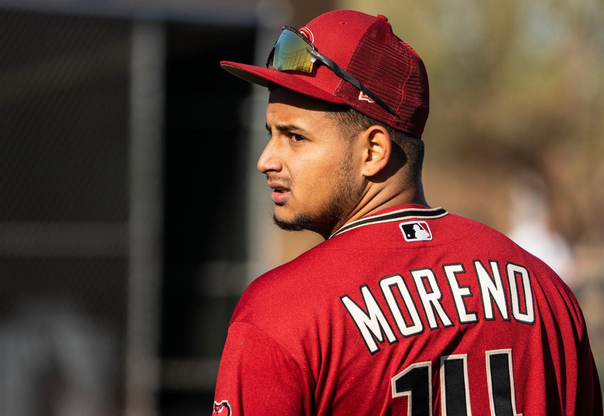
[[500,232],[419,205],[255,280],[215,398],[219,415],[602,414],[568,286]]

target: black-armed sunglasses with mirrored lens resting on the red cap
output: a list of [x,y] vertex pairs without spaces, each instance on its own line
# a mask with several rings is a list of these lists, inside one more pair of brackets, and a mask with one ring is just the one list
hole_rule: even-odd
[[317,51],[315,45],[304,34],[288,25],[284,25],[281,28],[283,32],[281,32],[266,60],[266,68],[277,69],[277,71],[312,72],[313,66],[321,62],[339,78],[351,83],[357,89],[364,92],[367,97],[387,110],[387,112],[399,118],[399,115],[388,104],[377,98],[373,92],[362,85],[355,77]]

